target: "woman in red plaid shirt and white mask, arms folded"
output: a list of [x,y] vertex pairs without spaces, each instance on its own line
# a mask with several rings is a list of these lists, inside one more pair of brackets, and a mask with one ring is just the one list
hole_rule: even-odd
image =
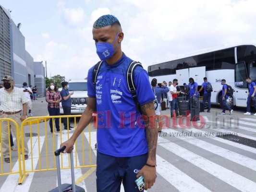
[[[46,102],[48,102],[49,116],[61,115],[61,113],[60,113],[61,94],[59,93],[59,91],[54,83],[50,83],[50,86],[47,89]],[[59,133],[61,133],[60,119],[59,118],[54,118],[54,119],[55,119],[55,127],[57,130],[57,132],[55,132],[55,133],[59,134]],[[51,134],[53,134],[52,118],[50,118],[49,124],[50,124],[50,132],[51,132]]]

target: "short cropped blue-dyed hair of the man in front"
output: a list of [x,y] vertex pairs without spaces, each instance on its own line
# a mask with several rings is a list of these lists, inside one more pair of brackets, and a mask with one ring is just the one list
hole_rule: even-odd
[[113,26],[114,24],[121,26],[118,19],[114,15],[102,15],[96,20],[96,22],[94,22],[93,27],[99,29],[106,26]]

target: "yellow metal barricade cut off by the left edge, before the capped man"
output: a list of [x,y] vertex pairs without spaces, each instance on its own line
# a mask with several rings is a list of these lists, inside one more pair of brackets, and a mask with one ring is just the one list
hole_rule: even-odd
[[[5,122],[6,121],[6,122]],[[10,154],[10,163],[6,163],[3,156],[3,139],[2,139],[2,131],[3,128],[2,124],[7,123],[7,131],[8,131],[8,146],[9,146],[9,154]],[[12,123],[12,132],[15,131],[16,134],[16,140],[17,140],[17,151],[12,152],[11,150],[11,141],[10,141],[10,134],[11,134],[11,123]],[[6,130],[5,130],[6,131]],[[21,146],[20,146],[20,136],[21,132],[19,130],[19,126],[15,120],[9,119],[9,118],[1,118],[0,119],[0,158],[1,158],[1,168],[0,168],[0,176],[3,175],[10,175],[10,174],[19,174],[20,177],[22,177],[22,166],[21,166]],[[17,153],[17,155],[15,155]],[[12,160],[18,159],[18,168],[15,168],[13,170]],[[9,167],[9,168],[8,168]]]

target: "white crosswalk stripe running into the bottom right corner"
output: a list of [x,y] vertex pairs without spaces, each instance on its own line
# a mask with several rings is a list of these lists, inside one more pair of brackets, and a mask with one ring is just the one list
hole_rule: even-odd
[[[161,142],[165,142],[165,140],[167,140],[162,137],[159,137],[158,139]],[[218,164],[213,163],[202,156],[198,156],[195,153],[186,150],[177,144],[169,141],[169,143],[159,143],[159,145],[242,192],[253,192],[256,189],[256,183],[252,180],[248,180],[227,168],[219,166]]]

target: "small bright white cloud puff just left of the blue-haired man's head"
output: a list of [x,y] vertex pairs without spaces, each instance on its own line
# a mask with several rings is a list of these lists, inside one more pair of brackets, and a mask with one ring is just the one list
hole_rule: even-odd
[[72,9],[66,8],[65,5],[66,4],[64,2],[58,3],[59,11],[61,12],[64,22],[67,22],[72,26],[76,26],[76,24],[82,23],[85,20],[86,16],[83,8],[78,7],[76,9]]

